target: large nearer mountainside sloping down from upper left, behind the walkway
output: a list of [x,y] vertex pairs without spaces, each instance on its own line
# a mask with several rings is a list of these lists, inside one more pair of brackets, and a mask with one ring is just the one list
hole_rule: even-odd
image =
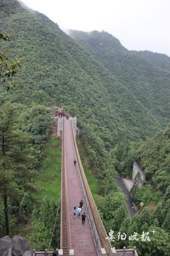
[[[159,130],[137,97],[44,15],[18,5],[14,14],[1,18],[0,27],[15,35],[2,46],[10,49],[9,56],[24,57],[12,102],[59,102],[79,120],[87,119],[106,147]],[[1,91],[2,99],[5,94]]]

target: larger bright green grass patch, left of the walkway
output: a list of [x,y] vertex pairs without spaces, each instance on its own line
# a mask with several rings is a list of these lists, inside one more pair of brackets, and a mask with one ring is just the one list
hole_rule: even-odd
[[59,200],[61,190],[61,138],[51,137],[41,162],[40,175],[37,181],[40,193],[35,195],[43,199],[45,195],[55,203]]

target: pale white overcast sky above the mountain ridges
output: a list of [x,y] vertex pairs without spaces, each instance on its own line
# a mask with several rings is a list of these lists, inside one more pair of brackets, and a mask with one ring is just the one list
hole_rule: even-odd
[[60,28],[107,31],[128,50],[170,56],[170,0],[22,0]]

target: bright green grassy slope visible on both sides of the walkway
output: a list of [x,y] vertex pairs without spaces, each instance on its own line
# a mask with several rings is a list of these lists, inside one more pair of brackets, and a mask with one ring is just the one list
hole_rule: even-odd
[[[77,140],[77,147],[84,169],[84,173],[91,190],[92,195],[99,193],[99,185],[95,175],[87,168],[85,152],[80,146],[80,141]],[[41,161],[40,175],[36,184],[40,188],[40,193],[36,198],[43,199],[45,195],[54,202],[57,202],[60,196],[61,189],[61,137],[51,137],[45,150],[45,157]]]

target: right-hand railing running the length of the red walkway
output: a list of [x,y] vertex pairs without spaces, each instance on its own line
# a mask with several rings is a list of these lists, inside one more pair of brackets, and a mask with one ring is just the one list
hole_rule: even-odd
[[[77,160],[77,164],[78,164],[78,177],[80,180],[80,186],[81,186],[81,190],[82,193],[85,195],[84,197],[84,201],[86,202],[87,205],[87,209],[89,210],[90,214],[89,216],[91,216],[91,231],[93,233],[93,237],[95,234],[97,234],[96,238],[94,238],[94,241],[96,243],[96,246],[100,246],[105,248],[105,251],[107,254],[109,254],[110,248],[111,248],[111,244],[108,241],[108,239],[105,239],[107,237],[105,228],[103,226],[103,223],[101,221],[101,218],[99,216],[99,213],[97,211],[96,205],[94,203],[91,191],[89,189],[84,171],[83,171],[83,167],[81,164],[81,160],[79,157],[79,153],[78,153],[78,149],[77,149],[77,145],[76,145],[76,141],[75,141],[75,136],[74,136],[74,132],[73,132],[73,122],[71,120],[71,131],[72,131],[72,138],[73,138],[73,144],[74,144],[74,149],[75,149],[75,155],[76,155],[76,160]],[[86,198],[86,199],[85,199]],[[95,231],[93,231],[95,230]],[[98,239],[98,238],[99,239]],[[98,252],[98,248],[97,248],[97,252]]]

